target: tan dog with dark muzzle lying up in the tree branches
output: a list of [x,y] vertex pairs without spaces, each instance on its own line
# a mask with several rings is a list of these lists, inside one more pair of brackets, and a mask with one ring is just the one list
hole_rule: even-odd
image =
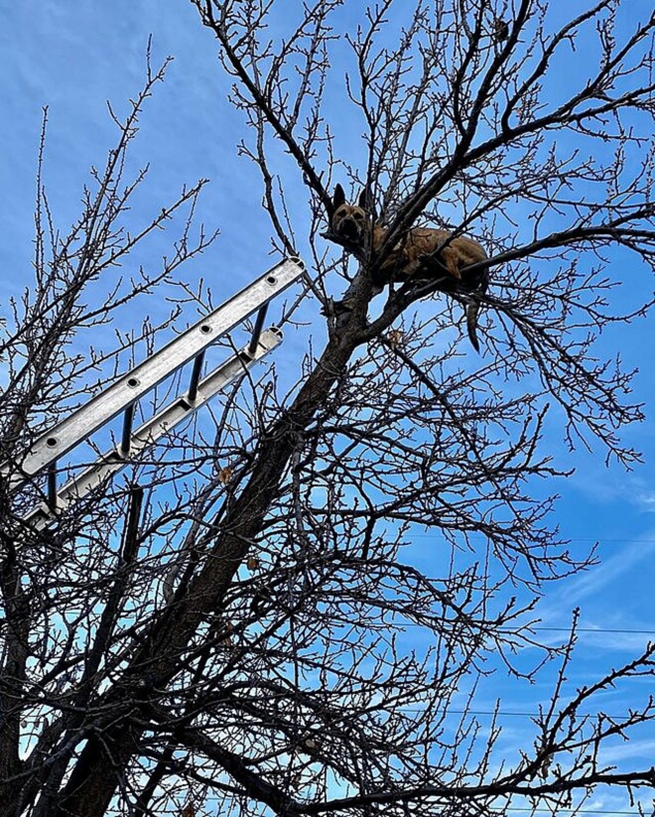
[[[385,240],[385,227],[373,223],[368,212],[366,194],[359,203],[349,204],[341,185],[336,185],[332,199],[332,232],[353,248],[380,251]],[[372,232],[371,232],[372,230]],[[483,294],[488,286],[488,260],[480,244],[466,235],[453,235],[448,230],[414,227],[390,248],[377,270],[372,273],[375,294],[385,284],[395,281],[416,283],[439,281],[439,290],[470,296]],[[468,272],[467,268],[476,265]],[[343,301],[342,301],[343,303]],[[476,333],[479,302],[469,297],[466,305],[466,328],[474,349],[479,352]]]

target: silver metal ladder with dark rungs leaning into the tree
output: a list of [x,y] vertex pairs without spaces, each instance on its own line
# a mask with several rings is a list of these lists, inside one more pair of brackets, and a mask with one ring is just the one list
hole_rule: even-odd
[[[47,502],[25,517],[25,522],[37,529],[46,527],[69,502],[85,496],[115,471],[133,462],[144,449],[189,417],[208,400],[225,389],[235,377],[251,368],[283,341],[280,329],[272,327],[262,332],[269,301],[291,286],[304,273],[297,258],[287,258],[242,289],[210,315],[180,333],[163,349],[122,375],[105,391],[91,398],[76,412],[51,428],[35,441],[18,471],[6,462],[0,475],[7,480],[10,492],[33,480],[47,470]],[[212,373],[200,379],[205,350],[235,326],[257,313],[252,337],[247,346],[225,360]],[[189,391],[172,400],[152,419],[132,431],[137,401],[193,359]],[[91,466],[61,489],[56,484],[56,464],[60,457],[123,412],[123,433],[115,449],[101,454]],[[13,472],[12,472],[13,471]]]

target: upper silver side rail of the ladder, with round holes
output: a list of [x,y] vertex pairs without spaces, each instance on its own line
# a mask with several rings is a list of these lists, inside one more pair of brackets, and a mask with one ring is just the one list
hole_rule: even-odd
[[[86,440],[105,422],[136,403],[136,400],[165,377],[283,292],[300,278],[303,270],[302,262],[298,259],[286,259],[272,267],[229,301],[225,301],[211,315],[199,320],[163,349],[120,377],[112,386],[91,398],[86,405],[78,408],[78,411],[35,442],[21,463],[23,474],[12,478],[10,489],[16,489],[31,476],[38,474],[82,440]],[[0,473],[2,472],[7,472],[6,466],[0,467]]]

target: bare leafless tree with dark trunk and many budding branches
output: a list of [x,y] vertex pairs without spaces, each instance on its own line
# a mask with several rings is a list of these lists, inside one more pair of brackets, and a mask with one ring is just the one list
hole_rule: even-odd
[[[515,653],[539,646],[544,584],[593,560],[570,556],[554,500],[535,498],[562,473],[544,429],[564,417],[570,445],[639,456],[618,433],[642,417],[631,373],[599,358],[597,336],[651,305],[655,15],[625,33],[619,0],[564,25],[539,0],[386,0],[353,29],[341,0],[192,2],[234,78],[274,248],[311,259],[284,319],[315,298],[328,341],[291,393],[270,371],[244,377],[212,426],[172,436],[46,534],[21,522],[42,486],[2,502],[0,814],[555,811],[600,787],[639,805],[652,768],[608,766],[604,746],[652,721],[653,701],[608,717],[599,698],[652,676],[655,647],[577,690],[575,620],[531,669]],[[581,42],[563,91],[559,66]],[[102,363],[73,354],[75,333],[209,241],[186,221],[160,273],[112,283],[103,306],[81,300],[137,239],[193,213],[202,183],[123,231],[141,181],[123,186],[124,151],[158,78],[69,237],[38,182],[37,279],[2,346],[14,467]],[[381,243],[331,229],[336,182],[363,190]],[[422,279],[373,297],[418,225],[483,243],[487,292],[447,285],[436,253]],[[480,359],[461,327],[472,303]],[[123,523],[141,491],[140,524]],[[434,534],[436,577],[403,558],[417,529]],[[497,720],[484,730],[471,712],[488,660],[530,678],[560,663],[517,757],[499,757]]]

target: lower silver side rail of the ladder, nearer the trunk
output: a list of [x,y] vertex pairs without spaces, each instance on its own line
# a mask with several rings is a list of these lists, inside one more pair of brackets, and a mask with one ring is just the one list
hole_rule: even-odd
[[195,400],[189,400],[188,394],[180,395],[155,414],[154,417],[143,423],[136,431],[133,431],[129,453],[123,453],[121,444],[118,444],[115,449],[110,449],[101,454],[96,462],[62,486],[56,495],[56,502],[52,503],[53,507],[48,507],[47,502],[43,502],[42,505],[34,508],[28,516],[25,516],[25,522],[38,530],[47,527],[61,511],[68,507],[70,502],[86,496],[87,493],[103,484],[110,475],[120,471],[121,468],[136,459],[142,451],[149,448],[150,445],[154,444],[178,423],[190,417],[207,401],[212,400],[212,397],[225,389],[225,386],[229,386],[235,377],[243,374],[282,342],[283,333],[280,329],[275,327],[266,329],[265,332],[261,333],[254,352],[251,353],[248,350],[248,344],[243,347],[243,350],[229,357],[225,360],[225,363],[222,363],[207,377],[204,377],[198,383]]

